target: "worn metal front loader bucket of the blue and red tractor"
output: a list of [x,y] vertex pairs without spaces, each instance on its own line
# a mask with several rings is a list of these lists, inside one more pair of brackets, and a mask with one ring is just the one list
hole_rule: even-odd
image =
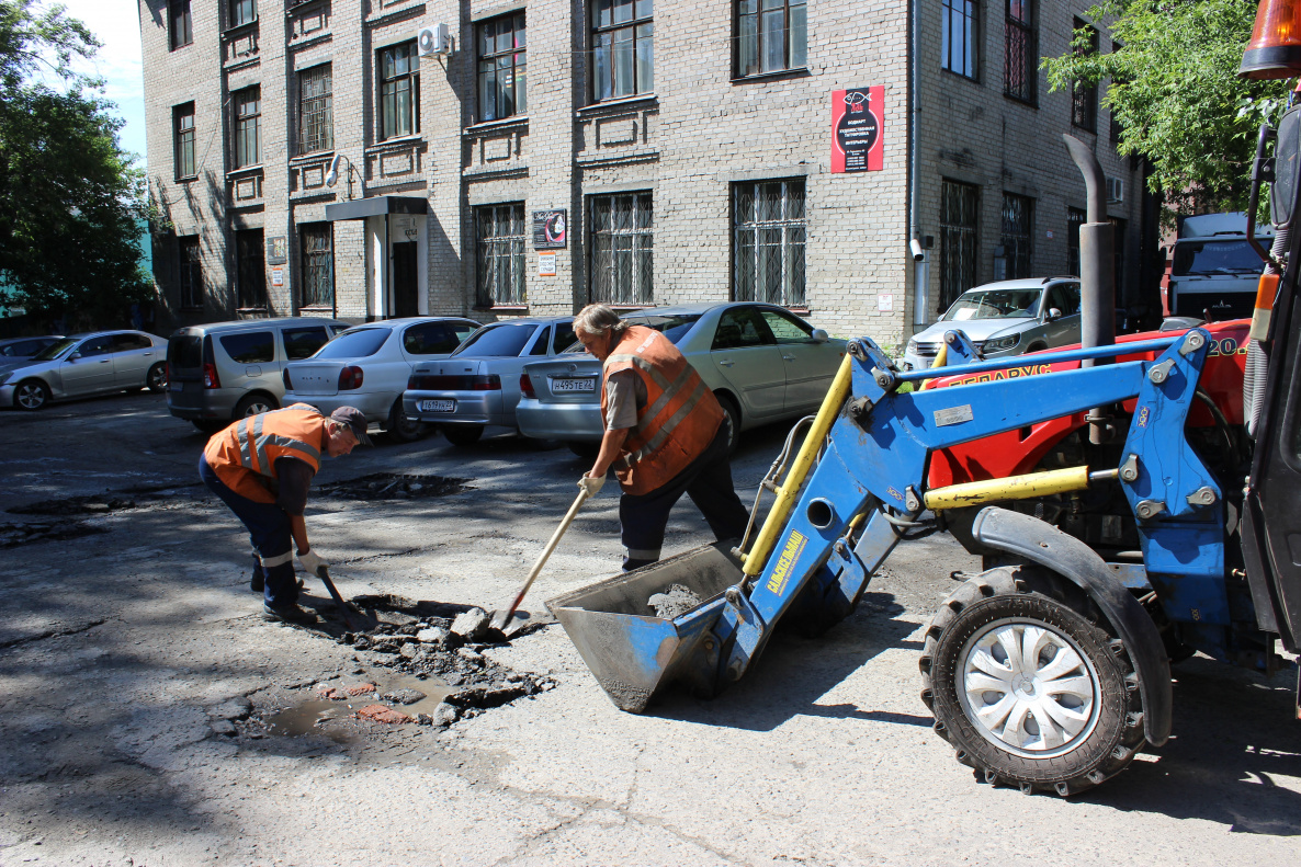
[[[548,599],[546,607],[619,710],[640,714],[673,682],[697,694],[717,692],[718,649],[709,628],[723,608],[723,590],[743,577],[730,547],[705,545]],[[657,617],[650,597],[675,584],[703,602],[673,620]]]

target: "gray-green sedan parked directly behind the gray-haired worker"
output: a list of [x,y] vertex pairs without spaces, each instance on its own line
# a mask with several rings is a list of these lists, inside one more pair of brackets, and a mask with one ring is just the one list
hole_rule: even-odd
[[[690,304],[624,318],[664,331],[691,361],[731,420],[732,446],[735,432],[814,412],[844,355],[844,341],[771,304]],[[601,363],[566,352],[524,370],[520,433],[591,452],[602,430]]]

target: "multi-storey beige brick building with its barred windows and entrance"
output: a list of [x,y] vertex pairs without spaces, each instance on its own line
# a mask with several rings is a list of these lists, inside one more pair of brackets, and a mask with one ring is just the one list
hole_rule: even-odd
[[[972,285],[1077,270],[1063,133],[1115,178],[1132,299],[1141,172],[1037,62],[1088,5],[139,0],[160,320],[735,298],[892,346]],[[834,170],[847,101],[879,170]]]

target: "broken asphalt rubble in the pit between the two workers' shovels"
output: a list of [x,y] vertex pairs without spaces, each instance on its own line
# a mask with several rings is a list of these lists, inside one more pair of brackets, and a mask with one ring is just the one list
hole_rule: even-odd
[[[501,643],[501,634],[488,625],[488,614],[437,602],[411,602],[401,597],[356,597],[353,601],[371,615],[376,625],[364,632],[346,632],[338,641],[355,650],[385,654],[390,660],[380,664],[397,672],[429,679],[451,688],[432,714],[419,714],[416,723],[448,727],[461,719],[477,716],[518,698],[537,695],[556,686],[545,675],[516,672],[494,663],[481,651]],[[546,625],[531,624],[516,633],[527,634]],[[424,698],[415,690],[384,694],[385,702],[401,714],[401,707]],[[405,721],[393,715],[372,711],[376,721]]]

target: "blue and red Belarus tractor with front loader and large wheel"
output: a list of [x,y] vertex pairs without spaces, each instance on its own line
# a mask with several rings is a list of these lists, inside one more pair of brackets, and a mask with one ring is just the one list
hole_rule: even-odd
[[[1272,3],[1244,74],[1301,73],[1301,4],[1280,18]],[[1275,234],[1266,251],[1249,230],[1266,261],[1254,318],[1116,342],[1103,178],[1068,139],[1089,186],[1082,346],[985,361],[952,330],[937,378],[851,341],[752,538],[548,602],[614,703],[718,694],[774,628],[827,629],[895,545],[937,529],[984,571],[925,630],[921,698],[986,783],[1069,796],[1118,773],[1170,736],[1170,666],[1194,651],[1285,664],[1278,646],[1301,638],[1301,108],[1261,143],[1249,213],[1272,181]],[[657,594],[699,604],[657,610]]]

